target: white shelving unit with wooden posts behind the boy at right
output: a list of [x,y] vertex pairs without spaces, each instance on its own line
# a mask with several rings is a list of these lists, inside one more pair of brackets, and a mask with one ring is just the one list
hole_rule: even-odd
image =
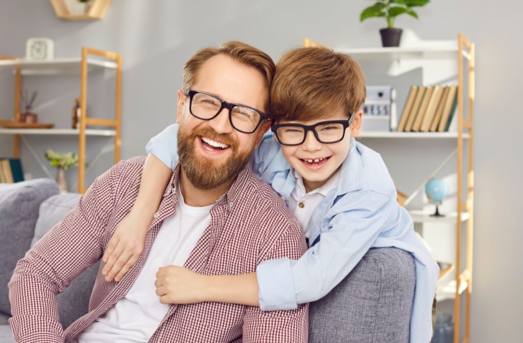
[[[304,39],[305,47],[321,45],[309,39]],[[465,333],[464,342],[470,340],[470,294],[472,292],[472,231],[473,231],[473,187],[474,174],[472,168],[472,147],[473,147],[473,105],[474,105],[474,44],[463,35],[458,35],[457,41],[441,42],[419,42],[416,47],[398,47],[398,48],[363,48],[363,49],[335,49],[338,52],[349,54],[363,68],[367,79],[372,79],[372,83],[383,84],[384,80],[388,84],[394,85],[401,77],[404,80],[411,80],[413,77],[423,85],[458,85],[458,108],[454,120],[456,125],[452,125],[449,132],[390,132],[390,131],[365,131],[365,124],[358,140],[361,139],[364,144],[373,146],[378,143],[379,146],[396,146],[405,149],[408,156],[408,164],[402,167],[407,169],[407,173],[416,173],[417,163],[426,163],[430,158],[429,150],[438,153],[444,152],[440,147],[448,149],[452,146],[451,141],[456,142],[457,167],[456,167],[456,185],[452,185],[455,193],[452,195],[456,203],[456,210],[446,211],[445,217],[436,218],[430,216],[434,213],[434,207],[430,207],[432,212],[424,209],[410,209],[410,214],[416,227],[422,227],[422,234],[426,230],[428,236],[437,238],[432,246],[437,255],[444,250],[445,259],[453,267],[448,269],[446,275],[442,276],[438,282],[436,299],[438,301],[453,300],[454,303],[454,343],[460,341],[460,294],[466,294],[465,301]],[[464,66],[468,63],[468,66]],[[411,73],[412,74],[408,74]],[[468,83],[465,83],[464,73],[468,73]],[[410,82],[410,81],[408,81]],[[410,87],[412,83],[407,86]],[[468,118],[464,118],[464,88],[467,86],[467,105]],[[405,88],[405,87],[404,87]],[[398,95],[400,90],[405,92],[406,89],[397,89]],[[406,97],[406,94],[403,94]],[[396,104],[403,105],[401,101],[403,96],[397,96],[399,99]],[[398,113],[401,113],[398,108]],[[363,120],[372,120],[365,116]],[[400,139],[400,141],[398,141]],[[412,140],[412,144],[403,143],[405,139]],[[386,140],[384,143],[383,140]],[[420,147],[419,140],[429,141],[429,144]],[[419,143],[419,144],[418,144]],[[468,143],[468,170],[464,169],[463,152],[464,143]],[[412,150],[411,150],[412,149]],[[382,153],[381,151],[378,151]],[[402,155],[402,151],[390,148],[387,150],[395,156]],[[416,153],[414,153],[416,152]],[[440,156],[441,154],[438,154]],[[446,159],[446,161],[448,161]],[[434,162],[434,161],[433,161]],[[398,167],[398,165],[396,165]],[[401,167],[401,166],[400,166]],[[438,167],[439,170],[439,167]],[[428,176],[428,175],[427,175]],[[426,176],[424,176],[425,178]],[[463,185],[463,179],[467,180],[466,186]],[[462,192],[466,191],[467,196],[462,200]],[[455,198],[455,199],[454,199]],[[448,203],[448,202],[447,202]],[[452,203],[452,202],[451,202]],[[449,213],[450,212],[450,213]],[[459,215],[458,215],[459,213]],[[463,253],[466,256],[466,263],[461,262],[461,236],[462,226],[467,229],[467,248]],[[429,242],[430,243],[430,242]],[[450,249],[449,249],[450,248]],[[455,248],[455,251],[452,250]],[[452,251],[452,252],[451,252]],[[464,268],[463,268],[464,267]]]

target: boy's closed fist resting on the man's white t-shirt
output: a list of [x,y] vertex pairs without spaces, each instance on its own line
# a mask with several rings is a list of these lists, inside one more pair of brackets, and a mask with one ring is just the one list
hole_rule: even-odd
[[156,295],[162,304],[195,304],[203,302],[207,276],[177,266],[160,267],[156,273]]

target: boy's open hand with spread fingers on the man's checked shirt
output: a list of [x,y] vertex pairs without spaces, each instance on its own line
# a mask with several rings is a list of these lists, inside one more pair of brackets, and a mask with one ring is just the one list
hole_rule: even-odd
[[120,281],[132,268],[145,247],[145,235],[152,220],[131,210],[112,235],[102,260],[106,281]]

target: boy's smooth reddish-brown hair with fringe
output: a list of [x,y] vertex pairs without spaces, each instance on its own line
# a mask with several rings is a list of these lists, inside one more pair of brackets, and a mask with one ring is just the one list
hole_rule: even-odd
[[365,102],[365,76],[356,61],[329,48],[299,48],[281,56],[270,90],[276,120],[309,121]]

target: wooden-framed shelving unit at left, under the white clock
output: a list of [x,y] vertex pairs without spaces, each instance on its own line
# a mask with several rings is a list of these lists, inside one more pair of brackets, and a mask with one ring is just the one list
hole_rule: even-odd
[[[114,63],[97,63],[89,59],[89,55],[95,55],[99,58],[111,60]],[[15,67],[15,121],[20,118],[20,89],[21,76],[23,74],[24,66],[31,67],[32,63],[24,63],[19,58],[8,56],[0,56],[0,61],[12,61],[8,63]],[[79,119],[78,129],[1,129],[0,133],[14,135],[13,156],[20,158],[20,134],[42,134],[42,135],[78,135],[78,193],[85,193],[85,150],[86,150],[86,136],[114,136],[115,138],[115,155],[114,163],[120,161],[120,147],[121,147],[121,83],[122,83],[122,57],[120,54],[96,50],[92,48],[82,48],[82,58],[80,60],[74,59],[73,62],[80,66],[80,104],[81,116]],[[73,63],[72,60],[67,63]],[[52,65],[52,62],[49,63]],[[110,68],[116,71],[116,89],[115,89],[115,117],[114,118],[90,118],[87,117],[87,80],[89,66],[96,64],[100,67]],[[48,73],[39,73],[40,75],[48,75]],[[87,126],[101,126],[109,127],[107,129],[91,129]]]

